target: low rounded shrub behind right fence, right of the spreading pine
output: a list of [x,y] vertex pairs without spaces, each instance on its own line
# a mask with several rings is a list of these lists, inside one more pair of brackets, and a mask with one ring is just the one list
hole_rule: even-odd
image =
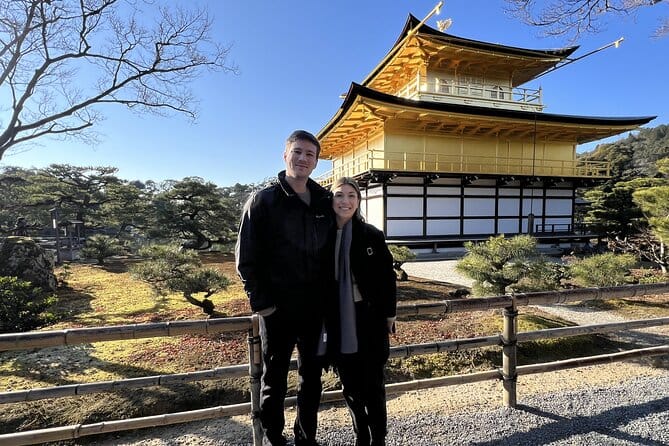
[[636,258],[631,254],[607,252],[583,259],[572,259],[569,273],[581,286],[618,286],[626,283],[625,276],[635,264]]

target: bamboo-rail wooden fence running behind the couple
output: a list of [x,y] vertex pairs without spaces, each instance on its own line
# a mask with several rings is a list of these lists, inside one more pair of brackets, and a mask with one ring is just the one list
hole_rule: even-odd
[[[623,330],[669,325],[669,317],[664,317],[612,324],[564,327],[518,333],[518,307],[527,305],[565,303],[577,300],[628,298],[661,293],[669,293],[669,283],[627,285],[622,287],[607,288],[585,288],[566,291],[496,296],[479,299],[453,299],[444,300],[437,303],[402,305],[398,307],[398,316],[400,318],[428,314],[446,314],[482,311],[489,309],[503,309],[504,328],[499,335],[495,336],[453,339],[426,344],[413,344],[393,347],[391,348],[391,357],[406,358],[414,355],[458,351],[486,346],[501,346],[502,367],[501,369],[470,373],[466,375],[444,376],[388,384],[386,386],[387,393],[394,394],[438,386],[464,384],[490,379],[501,379],[503,381],[503,404],[507,407],[516,407],[516,386],[518,376],[609,363],[612,361],[622,361],[642,356],[669,354],[669,344],[664,344],[649,348],[628,350],[619,353],[573,358],[543,364],[518,366],[516,361],[518,342],[593,333],[611,333]],[[18,446],[38,444],[48,441],[71,440],[89,435],[140,429],[146,427],[166,426],[177,423],[242,414],[252,415],[254,442],[255,444],[260,444],[260,426],[258,417],[256,415],[260,401],[260,376],[262,373],[262,366],[260,363],[260,338],[258,336],[257,316],[0,334],[0,352],[76,345],[101,341],[118,341],[160,336],[180,336],[185,334],[215,334],[239,331],[246,331],[248,334],[248,364],[221,367],[190,373],[178,373],[116,381],[0,392],[0,404],[16,403],[21,401],[35,401],[44,398],[60,398],[88,393],[108,392],[121,388],[128,389],[148,386],[165,386],[174,383],[243,376],[249,376],[250,379],[250,402],[127,420],[104,421],[93,424],[77,424],[71,426],[4,434],[0,435],[0,444],[5,446]],[[295,364],[293,364],[293,368],[294,367]],[[323,402],[330,402],[341,399],[341,391],[324,392],[322,396]],[[294,404],[295,397],[286,399],[287,406]]]

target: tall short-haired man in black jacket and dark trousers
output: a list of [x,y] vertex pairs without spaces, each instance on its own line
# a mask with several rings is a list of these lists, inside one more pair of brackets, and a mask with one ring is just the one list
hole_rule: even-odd
[[317,444],[322,367],[317,350],[329,277],[322,256],[334,222],[329,192],[309,178],[319,153],[314,135],[293,132],[283,153],[286,170],[275,184],[249,199],[239,228],[237,272],[251,309],[261,316],[260,422],[265,445],[287,444],[284,399],[295,346],[299,375],[295,444]]

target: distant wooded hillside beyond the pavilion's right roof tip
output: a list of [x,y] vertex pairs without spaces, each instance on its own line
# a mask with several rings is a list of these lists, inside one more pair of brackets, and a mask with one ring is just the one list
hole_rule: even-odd
[[579,155],[588,161],[610,161],[612,182],[638,177],[652,177],[657,173],[655,162],[669,156],[669,125],[641,129],[627,138],[613,143],[599,144],[591,152]]

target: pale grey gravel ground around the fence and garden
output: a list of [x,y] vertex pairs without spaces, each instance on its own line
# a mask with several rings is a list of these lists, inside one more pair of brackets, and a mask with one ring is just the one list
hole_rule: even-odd
[[[470,287],[455,261],[411,262],[411,276]],[[544,311],[579,324],[620,321],[617,315],[569,306]],[[651,345],[667,343],[666,329],[640,331]],[[645,333],[645,334],[644,334]],[[388,445],[668,445],[669,370],[656,360],[620,362],[522,376],[518,407],[502,405],[499,382],[480,382],[413,391],[388,399]],[[291,425],[294,410],[287,410]],[[324,406],[319,442],[353,444],[341,404]],[[252,441],[248,416],[119,434],[102,446],[239,446]]]

